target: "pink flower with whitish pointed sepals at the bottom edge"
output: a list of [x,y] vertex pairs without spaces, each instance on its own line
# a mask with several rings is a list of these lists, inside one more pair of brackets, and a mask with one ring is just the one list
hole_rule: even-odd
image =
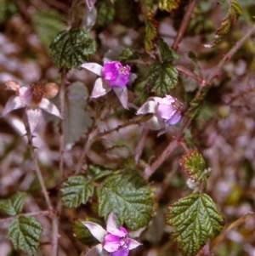
[[106,251],[111,256],[127,256],[130,250],[140,245],[139,242],[127,237],[126,229],[117,227],[113,213],[109,214],[106,230],[94,222],[83,221],[82,224],[88,227],[92,235],[101,242],[101,247],[99,245],[93,247],[88,253],[94,250],[100,253]]

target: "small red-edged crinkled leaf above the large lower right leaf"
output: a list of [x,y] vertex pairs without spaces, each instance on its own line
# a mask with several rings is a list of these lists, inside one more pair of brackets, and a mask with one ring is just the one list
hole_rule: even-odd
[[200,181],[203,178],[202,174],[206,168],[206,162],[197,150],[191,150],[188,154],[182,156],[179,163],[190,179]]

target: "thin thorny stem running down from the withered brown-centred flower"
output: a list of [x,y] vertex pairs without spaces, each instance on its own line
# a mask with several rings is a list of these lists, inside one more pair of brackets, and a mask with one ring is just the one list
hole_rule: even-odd
[[41,169],[39,168],[38,161],[37,161],[37,156],[36,156],[36,153],[34,151],[33,144],[32,144],[31,128],[29,126],[28,117],[27,117],[26,114],[25,114],[24,122],[25,122],[26,132],[27,132],[28,148],[29,148],[29,151],[31,153],[32,162],[34,163],[34,166],[35,166],[35,169],[36,169],[37,178],[38,178],[39,183],[40,183],[41,188],[42,188],[42,194],[43,194],[43,196],[45,198],[45,201],[48,205],[48,209],[52,210],[53,209],[52,203],[49,200],[48,191],[47,191],[46,186],[44,184],[44,180],[42,178],[42,172],[41,172]]

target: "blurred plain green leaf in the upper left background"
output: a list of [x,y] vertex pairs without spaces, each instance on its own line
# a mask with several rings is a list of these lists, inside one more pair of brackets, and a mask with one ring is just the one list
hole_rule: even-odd
[[31,20],[34,30],[47,48],[65,27],[64,18],[53,9],[38,9],[31,15]]

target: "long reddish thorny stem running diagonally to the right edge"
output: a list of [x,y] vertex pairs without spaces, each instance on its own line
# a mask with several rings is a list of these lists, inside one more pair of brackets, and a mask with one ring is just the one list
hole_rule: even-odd
[[[217,77],[218,75],[218,72],[220,71],[220,69],[223,67],[224,63],[226,61],[228,61],[229,59],[231,59],[233,57],[233,55],[236,53],[236,51],[241,48],[241,45],[243,43],[246,42],[247,38],[250,37],[252,35],[252,33],[255,31],[255,25],[252,26],[251,30],[248,31],[246,33],[246,35],[244,37],[242,37],[238,42],[235,43],[235,46],[233,48],[231,48],[229,50],[229,53],[226,54],[223,58],[223,60],[221,60],[217,67],[215,68],[215,70],[212,72],[212,74],[207,78],[206,81],[203,81],[202,82],[202,86],[201,88],[198,90],[198,93],[195,95],[195,98],[193,100],[193,102],[195,100],[197,100],[200,95],[201,95],[201,90],[202,88],[208,86],[210,84],[210,82],[212,82],[212,80]],[[190,104],[191,105],[191,104]],[[190,106],[191,107],[191,106]],[[153,164],[151,166],[148,166],[147,168],[145,168],[145,171],[144,171],[144,176],[145,176],[145,179],[149,179],[150,176],[152,174],[154,174],[154,172],[156,171],[157,168],[159,168],[159,166],[161,165],[162,162],[164,162],[168,156],[170,156],[170,154],[172,153],[172,151],[175,149],[175,147],[178,145],[178,141],[182,138],[183,136],[183,132],[184,132],[184,128],[186,128],[190,121],[191,121],[191,118],[187,115],[187,113],[189,113],[190,109],[188,111],[186,111],[186,114],[184,116],[184,119],[183,119],[183,122],[182,122],[182,126],[181,128],[178,130],[178,134],[175,136],[175,138],[173,138],[173,141],[171,141],[169,143],[169,145],[167,146],[167,148],[165,149],[165,151],[163,151],[161,153],[161,156],[159,156],[155,162],[153,162]]]

